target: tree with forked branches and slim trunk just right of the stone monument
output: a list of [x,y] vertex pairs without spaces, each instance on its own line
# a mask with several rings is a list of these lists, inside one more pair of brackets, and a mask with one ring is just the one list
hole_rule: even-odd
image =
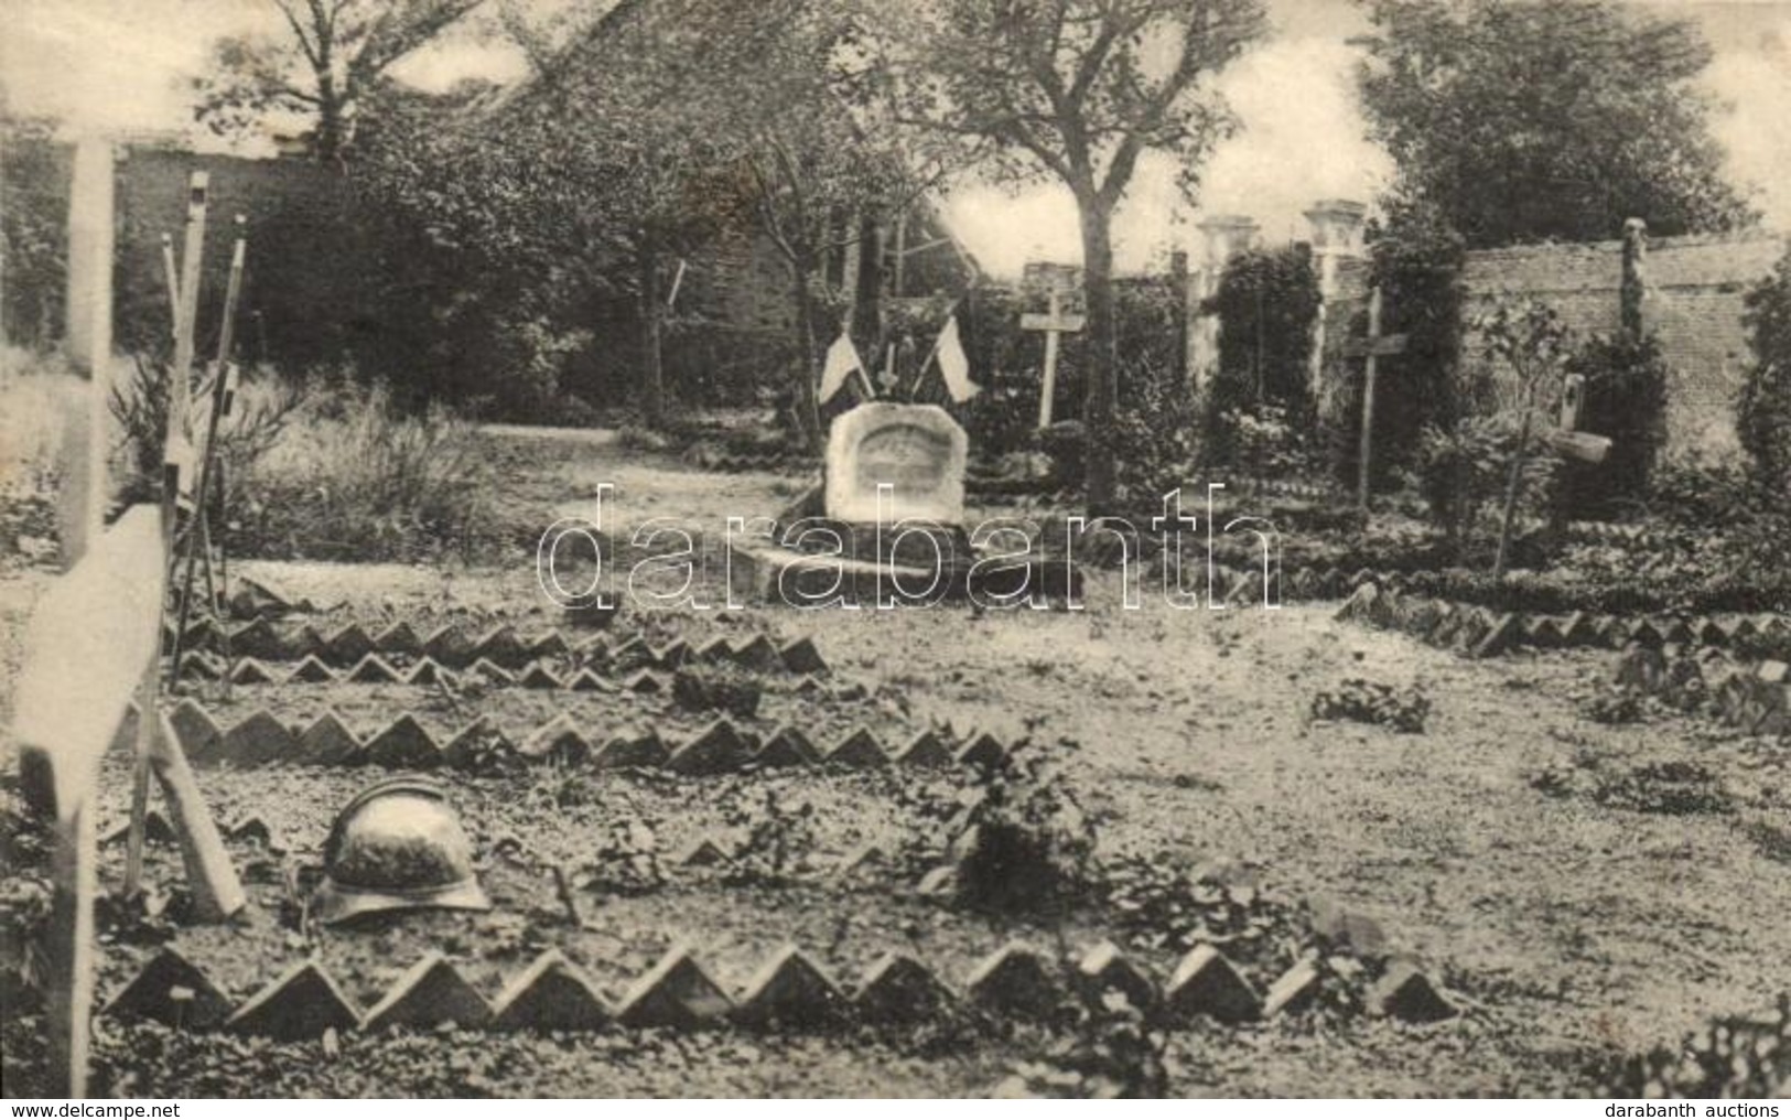
[[1007,179],[1069,188],[1087,285],[1087,500],[1114,502],[1112,219],[1146,151],[1186,194],[1234,120],[1211,77],[1263,34],[1259,0],[926,0],[879,13],[899,122],[960,140]]

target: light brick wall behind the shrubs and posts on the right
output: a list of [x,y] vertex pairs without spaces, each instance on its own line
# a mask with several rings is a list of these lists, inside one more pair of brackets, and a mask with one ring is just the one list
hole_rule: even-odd
[[[1650,242],[1642,319],[1673,366],[1667,389],[1667,450],[1730,459],[1739,452],[1735,391],[1748,364],[1741,326],[1743,297],[1786,253],[1784,235],[1669,237]],[[1519,246],[1469,253],[1463,267],[1467,306],[1476,315],[1499,299],[1542,299],[1574,335],[1610,335],[1619,326],[1623,242]],[[1368,265],[1341,262],[1327,321],[1352,323],[1367,305]],[[1341,332],[1325,339],[1327,376],[1347,369],[1336,357]],[[1478,353],[1469,337],[1465,355]]]

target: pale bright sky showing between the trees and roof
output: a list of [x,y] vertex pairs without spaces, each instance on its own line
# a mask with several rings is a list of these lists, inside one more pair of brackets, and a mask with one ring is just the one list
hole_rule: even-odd
[[[530,0],[562,4],[564,0]],[[1696,18],[1716,50],[1705,82],[1725,102],[1716,120],[1730,177],[1759,188],[1771,226],[1791,229],[1791,0],[1633,0]],[[1116,220],[1121,269],[1187,247],[1198,265],[1204,215],[1254,217],[1268,240],[1306,235],[1316,199],[1372,201],[1386,156],[1363,138],[1352,72],[1365,29],[1352,0],[1268,0],[1272,36],[1220,79],[1243,122],[1214,151],[1196,206],[1164,159],[1141,163]],[[186,84],[220,34],[276,29],[267,0],[0,0],[0,81],[18,111],[48,113],[72,131],[165,131],[190,124]],[[469,75],[523,72],[514,48],[457,36],[407,61],[405,81],[446,88]],[[1062,188],[1019,194],[958,188],[946,201],[955,233],[985,269],[1017,274],[1026,260],[1080,258],[1076,211]]]

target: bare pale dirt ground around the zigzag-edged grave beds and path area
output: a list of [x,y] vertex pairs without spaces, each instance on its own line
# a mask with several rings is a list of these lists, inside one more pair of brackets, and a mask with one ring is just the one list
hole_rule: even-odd
[[[776,513],[806,482],[695,473],[613,441],[493,439],[503,444],[518,504],[591,516],[598,484],[613,484],[604,525],[613,534],[648,516],[690,518],[718,532],[727,516]],[[503,570],[267,561],[238,570],[342,616],[460,607],[505,611],[530,625],[557,616],[525,556]],[[43,579],[0,577],[7,679],[20,620]],[[1286,898],[1336,900],[1379,921],[1390,943],[1417,955],[1463,1007],[1429,1027],[1290,1018],[1180,1032],[1168,1055],[1171,1091],[1180,1095],[1590,1091],[1589,1070],[1599,1059],[1671,1045],[1718,1014],[1757,1012],[1791,986],[1791,749],[1784,744],[1685,717],[1592,722],[1581,699],[1608,676],[1614,654],[1465,661],[1334,622],[1336,604],[1180,611],[1150,590],[1137,611],[1119,606],[1118,579],[1103,573],[1091,579],[1082,611],[754,607],[650,622],[625,616],[618,625],[693,642],[716,633],[813,636],[847,699],[811,701],[774,681],[761,720],[749,720],[749,729],[793,720],[844,733],[863,722],[896,744],[949,722],[1003,738],[1066,740],[1067,772],[1098,821],[1103,858],[1227,864]],[[1313,694],[1349,676],[1420,683],[1433,704],[1426,731],[1311,722]],[[215,706],[226,722],[253,706],[288,720],[330,706],[364,731],[403,708],[419,710],[432,729],[464,726],[464,713],[432,711],[432,702],[428,690],[398,685],[276,685],[236,688]],[[512,735],[552,710],[575,710],[596,728],[700,724],[666,701],[611,695],[573,701],[494,690],[480,710],[494,711]],[[1709,772],[1707,812],[1639,812],[1585,794],[1660,762],[1694,762]],[[1571,781],[1551,785],[1547,774]],[[299,862],[315,858],[333,806],[367,780],[324,769],[201,778],[220,819],[263,817],[285,857]],[[792,939],[842,980],[903,948],[960,982],[1008,937],[1076,948],[1112,935],[1110,916],[1098,909],[1030,923],[915,898],[912,874],[942,844],[928,806],[951,799],[960,781],[951,774],[604,774],[564,796],[566,805],[539,780],[448,781],[485,851],[496,912],[416,916],[333,934],[319,946],[294,944],[276,921],[281,855],[233,842],[256,914],[238,928],[183,928],[174,943],[231,995],[254,991],[272,962],[315,948],[365,1005],[426,948],[464,961],[467,977],[496,995],[507,975],[550,944],[620,991],[673,941],[695,944],[724,986],[738,987]],[[115,760],[102,796],[107,821],[122,817],[125,796],[125,769]],[[765,796],[817,812],[815,853],[792,883],[741,887],[713,871],[668,867],[661,889],[593,901],[578,926],[555,901],[543,869],[578,862],[616,821],[652,823],[657,849],[670,855],[702,835],[738,840],[741,806]],[[510,835],[521,842],[500,842]],[[829,874],[867,840],[890,855],[888,866],[853,882]],[[106,860],[115,882],[120,855],[107,849]],[[150,867],[158,882],[177,882],[172,853],[156,851]],[[1175,953],[1127,948],[1159,982],[1175,964]],[[127,937],[104,946],[102,987],[116,989],[150,952]],[[29,1091],[41,1066],[18,1052],[29,1045],[18,1034],[7,1039],[18,1043],[5,1057],[7,1093]],[[322,1054],[319,1043],[183,1038],[102,1020],[100,1064],[111,1091],[133,1095],[974,1095],[994,1091],[1048,1043],[1030,1029],[969,1039],[607,1032],[347,1038]]]

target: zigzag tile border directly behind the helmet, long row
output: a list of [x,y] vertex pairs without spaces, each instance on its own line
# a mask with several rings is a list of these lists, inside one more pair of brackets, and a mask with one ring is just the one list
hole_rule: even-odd
[[335,711],[324,710],[308,726],[287,726],[265,708],[256,708],[224,728],[192,697],[168,713],[186,758],[195,767],[233,765],[378,765],[387,769],[480,771],[501,762],[587,765],[591,769],[650,767],[677,774],[733,774],[749,767],[838,765],[874,769],[908,767],[996,767],[1008,756],[1008,744],[989,731],[971,731],[956,742],[926,729],[897,749],[876,731],[858,726],[827,749],[799,728],[779,726],[763,738],[720,717],[677,740],[648,728],[634,735],[598,738],[586,735],[568,713],[559,713],[521,738],[505,735],[489,715],[480,715],[446,742],[410,711],[399,711],[371,735],[355,735]]

